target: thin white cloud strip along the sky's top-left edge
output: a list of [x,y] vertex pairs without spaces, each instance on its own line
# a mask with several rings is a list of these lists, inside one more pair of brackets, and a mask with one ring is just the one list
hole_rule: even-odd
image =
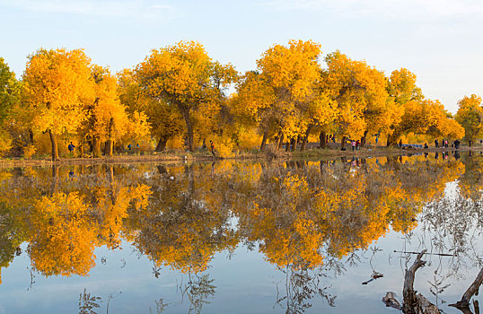
[[159,1],[96,1],[96,0],[7,0],[0,6],[39,13],[73,13],[113,17],[149,17],[172,9]]

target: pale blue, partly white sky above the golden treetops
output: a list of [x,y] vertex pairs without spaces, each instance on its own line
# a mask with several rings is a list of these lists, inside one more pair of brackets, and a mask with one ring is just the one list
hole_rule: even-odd
[[479,0],[0,0],[0,31],[0,57],[18,77],[39,48],[83,48],[117,72],[197,40],[244,72],[274,44],[312,39],[388,76],[407,68],[453,113],[464,95],[483,95]]

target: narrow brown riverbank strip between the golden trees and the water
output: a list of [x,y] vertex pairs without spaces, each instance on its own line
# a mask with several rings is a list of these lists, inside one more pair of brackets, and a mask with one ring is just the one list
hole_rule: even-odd
[[[141,152],[136,154],[120,154],[112,157],[102,156],[100,158],[80,158],[65,156],[59,161],[51,161],[48,158],[45,159],[0,159],[0,168],[12,168],[12,167],[31,167],[31,166],[52,166],[52,165],[89,165],[89,164],[121,164],[121,163],[149,163],[149,162],[165,162],[165,161],[215,161],[215,160],[323,160],[334,159],[340,157],[355,157],[355,158],[367,158],[375,156],[389,156],[389,155],[402,155],[402,154],[415,154],[415,153],[443,153],[452,152],[454,148],[435,148],[430,147],[427,149],[415,149],[406,147],[403,149],[397,147],[362,147],[358,151],[352,151],[351,147],[347,147],[347,151],[341,151],[339,145],[329,145],[329,147],[321,149],[312,147],[303,152],[285,152],[285,150],[275,150],[269,148],[265,152],[259,152],[258,150],[252,150],[250,152],[235,153],[233,157],[219,158],[213,156],[206,150],[197,151],[195,153],[182,152],[182,151],[168,151],[163,153],[147,153]],[[460,152],[475,151],[479,152],[483,150],[483,146],[468,147],[463,146],[459,149]]]

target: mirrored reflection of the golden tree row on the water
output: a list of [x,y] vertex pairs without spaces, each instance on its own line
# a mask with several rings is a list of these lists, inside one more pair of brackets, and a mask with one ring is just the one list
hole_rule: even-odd
[[[466,263],[482,264],[471,233],[483,225],[482,163],[480,155],[425,153],[1,170],[0,266],[28,243],[35,273],[84,276],[95,266],[94,249],[127,240],[151,260],[154,277],[165,268],[188,275],[180,295],[199,312],[216,293],[206,274],[215,254],[243,245],[284,274],[274,299],[298,313],[316,297],[334,306],[326,276],[357,266],[364,252],[372,262],[371,244],[396,231],[432,252],[454,253],[451,272],[435,272],[437,296]],[[156,301],[156,309],[165,306]]]

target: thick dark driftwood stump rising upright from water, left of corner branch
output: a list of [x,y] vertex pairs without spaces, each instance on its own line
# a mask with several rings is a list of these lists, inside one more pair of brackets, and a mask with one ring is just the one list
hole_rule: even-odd
[[426,261],[421,260],[421,257],[425,255],[426,249],[417,254],[414,264],[409,267],[404,276],[404,289],[402,312],[406,314],[435,314],[439,313],[435,304],[428,301],[421,293],[416,294],[414,290],[414,278],[416,271],[419,267],[425,266]]

